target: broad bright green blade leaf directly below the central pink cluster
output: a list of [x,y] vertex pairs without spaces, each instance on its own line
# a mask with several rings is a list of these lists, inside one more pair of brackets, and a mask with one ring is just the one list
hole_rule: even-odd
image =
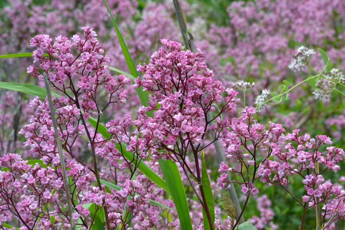
[[159,159],[158,163],[168,185],[172,200],[176,206],[181,230],[193,229],[189,215],[185,188],[183,186],[181,175],[178,171],[176,163],[163,159]]

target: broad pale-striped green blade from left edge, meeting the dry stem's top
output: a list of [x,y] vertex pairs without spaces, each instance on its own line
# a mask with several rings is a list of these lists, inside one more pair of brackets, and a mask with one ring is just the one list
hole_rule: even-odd
[[[10,89],[13,91],[18,91],[26,94],[30,94],[33,96],[39,96],[42,100],[46,99],[47,92],[45,88],[36,86],[36,85],[30,85],[30,84],[22,84],[22,83],[11,83],[11,82],[0,82],[0,88],[3,89]],[[55,97],[59,98],[60,95],[50,92]]]

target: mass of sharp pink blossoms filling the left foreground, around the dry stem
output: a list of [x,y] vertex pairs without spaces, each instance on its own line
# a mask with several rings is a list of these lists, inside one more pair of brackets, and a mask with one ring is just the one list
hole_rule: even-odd
[[[55,90],[63,94],[59,97],[52,96],[52,102],[67,176],[72,188],[71,194],[64,192],[48,100],[41,102],[36,97],[30,101],[30,107],[36,108],[36,114],[31,117],[30,124],[21,129],[20,134],[26,138],[24,145],[30,147],[30,155],[42,161],[31,168],[27,161],[22,161],[16,154],[0,158],[0,165],[10,169],[9,172],[0,172],[1,178],[5,179],[0,185],[0,190],[3,191],[0,197],[0,210],[4,213],[0,217],[1,223],[16,217],[25,229],[32,229],[40,218],[42,220],[37,229],[43,229],[51,227],[50,216],[54,215],[56,226],[69,228],[69,218],[64,211],[68,195],[71,196],[75,208],[72,218],[80,226],[88,228],[92,225],[93,217],[84,205],[95,203],[98,212],[103,207],[107,208],[111,229],[129,221],[133,221],[133,226],[139,226],[138,228],[150,229],[165,220],[160,217],[161,209],[152,207],[148,199],[170,208],[174,208],[174,204],[162,198],[162,189],[157,189],[154,183],[140,172],[136,172],[138,161],[127,161],[122,152],[120,154],[116,150],[115,145],[121,142],[129,144],[127,151],[137,152],[140,161],[147,153],[147,150],[141,151],[143,140],[139,136],[137,141],[138,131],[131,136],[128,134],[127,128],[133,123],[130,116],[126,115],[122,123],[118,118],[108,123],[108,133],[111,134],[108,139],[97,133],[97,127],[87,125],[86,119],[90,116],[97,116],[99,124],[102,112],[110,104],[125,102],[127,90],[124,90],[124,85],[131,81],[124,75],[116,77],[108,73],[108,67],[104,64],[109,59],[102,55],[103,50],[96,39],[96,33],[88,27],[82,29],[83,37],[79,33],[73,36],[72,40],[59,36],[53,45],[52,39],[47,35],[32,38],[31,45],[37,47],[33,54],[34,62],[40,63],[43,73],[35,66],[28,68],[28,73],[40,80],[44,75],[48,76]],[[77,50],[78,55],[74,56],[72,50]],[[100,107],[98,98],[100,94],[102,98],[106,98],[105,93],[108,102]],[[106,162],[103,163],[109,163],[109,167],[103,167],[100,174],[96,171],[95,162],[96,166],[92,169],[75,153],[75,143],[78,140],[85,142],[81,136],[88,139],[91,152],[95,151],[95,154],[100,155],[101,161],[105,159]],[[146,163],[151,164],[158,172],[158,166],[154,162]],[[130,169],[129,173],[126,172],[127,169]],[[116,170],[124,173],[117,175]],[[98,183],[97,175],[103,176],[104,179],[115,178],[115,184],[122,186],[122,189],[109,191],[107,188],[109,193],[106,192],[105,186]],[[131,180],[134,175],[136,179]],[[96,182],[98,186],[93,186]],[[131,212],[130,219],[123,219],[122,214],[125,210]],[[171,225],[176,226],[176,223],[171,221]]]

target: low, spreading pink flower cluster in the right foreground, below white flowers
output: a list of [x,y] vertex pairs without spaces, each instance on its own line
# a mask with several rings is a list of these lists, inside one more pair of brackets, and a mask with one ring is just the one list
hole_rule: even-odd
[[[227,124],[228,129],[221,138],[224,153],[228,159],[239,162],[239,166],[231,168],[221,162],[218,172],[223,174],[217,179],[220,187],[226,188],[229,183],[241,184],[241,191],[249,197],[259,192],[254,182],[262,179],[267,187],[282,186],[305,209],[305,202],[309,202],[312,208],[316,203],[323,204],[325,212],[322,216],[324,221],[325,218],[330,219],[328,225],[337,219],[345,219],[345,191],[329,181],[325,182],[322,175],[328,170],[338,172],[338,163],[345,156],[344,151],[330,146],[322,152],[324,145],[332,144],[331,138],[325,135],[315,138],[309,134],[299,136],[299,130],[284,135],[282,125],[272,122],[266,129],[254,120],[254,113],[254,108],[246,107],[242,109],[242,117],[232,118]],[[241,175],[243,182],[228,181],[225,172]],[[289,189],[289,176],[295,175],[302,178],[306,190],[303,200],[295,197]],[[255,223],[259,224],[258,220]]]

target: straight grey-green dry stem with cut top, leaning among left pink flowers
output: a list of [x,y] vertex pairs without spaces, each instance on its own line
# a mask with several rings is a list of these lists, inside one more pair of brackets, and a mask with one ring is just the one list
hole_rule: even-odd
[[62,143],[60,140],[59,132],[58,132],[58,125],[56,123],[56,117],[55,117],[55,109],[53,106],[53,102],[51,100],[51,94],[50,94],[50,89],[49,89],[49,81],[48,77],[46,74],[43,74],[45,86],[46,86],[46,91],[47,91],[47,98],[48,98],[48,104],[49,104],[49,110],[50,110],[50,116],[55,132],[55,139],[56,139],[56,144],[60,156],[60,164],[61,164],[61,169],[62,169],[62,178],[63,178],[63,186],[65,186],[65,192],[66,192],[66,199],[67,199],[67,206],[68,206],[68,214],[69,214],[69,222],[71,224],[71,229],[76,230],[76,227],[74,226],[74,221],[72,219],[72,201],[71,201],[71,188],[68,182],[68,176],[66,172],[66,164],[65,164],[65,159],[63,157],[62,153]]

